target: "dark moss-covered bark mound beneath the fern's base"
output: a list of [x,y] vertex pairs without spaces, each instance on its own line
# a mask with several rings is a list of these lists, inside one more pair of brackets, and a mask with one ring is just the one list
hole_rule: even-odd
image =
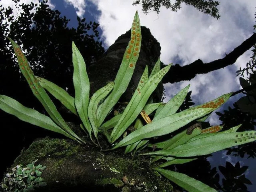
[[37,191],[172,191],[171,184],[152,170],[147,159],[136,156],[132,160],[122,149],[102,152],[99,147],[67,139],[42,138],[22,152],[13,166],[35,160],[35,164],[46,166],[41,177],[47,186]]

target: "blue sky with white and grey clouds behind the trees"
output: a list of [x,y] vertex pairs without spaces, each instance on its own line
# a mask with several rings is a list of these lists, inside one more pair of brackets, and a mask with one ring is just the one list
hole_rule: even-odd
[[[31,2],[31,0],[24,0]],[[33,0],[34,3],[38,2]],[[48,0],[52,8],[58,9],[62,15],[71,18],[70,26],[77,26],[76,16],[86,17],[86,20],[96,20],[100,23],[100,34],[107,49],[116,38],[130,29],[135,11],[138,10],[140,23],[150,29],[153,36],[160,42],[161,60],[165,64],[179,63],[182,66],[201,59],[210,62],[223,58],[253,33],[256,12],[255,0],[219,0],[219,20],[198,12],[192,6],[182,5],[178,12],[171,12],[165,8],[160,14],[149,12],[145,15],[141,6],[132,6],[133,0]],[[11,0],[2,0],[4,6],[12,6]],[[16,14],[14,12],[14,14]],[[191,84],[192,99],[196,104],[207,102],[218,96],[239,90],[239,78],[236,70],[243,68],[250,60],[251,51],[240,56],[235,64],[208,74],[197,75],[194,79],[177,84],[166,84],[166,98],[168,101],[180,89]],[[228,108],[242,95],[233,97],[218,111]],[[212,114],[209,122],[219,124],[218,116]],[[222,153],[218,153],[226,158]],[[239,159],[226,159],[236,162]],[[225,165],[225,161],[214,161],[216,165]],[[241,162],[243,164],[243,162]],[[250,162],[246,162],[250,164]],[[213,163],[214,165],[214,163]],[[255,166],[254,166],[255,167]],[[247,172],[250,176],[254,172],[253,166]],[[253,177],[252,177],[253,178]],[[251,180],[252,181],[252,180]],[[255,184],[254,184],[255,185]]]

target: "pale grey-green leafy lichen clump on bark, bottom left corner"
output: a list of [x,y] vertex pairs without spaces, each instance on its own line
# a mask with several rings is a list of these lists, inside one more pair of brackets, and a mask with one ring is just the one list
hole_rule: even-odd
[[42,171],[46,166],[35,166],[34,162],[26,166],[17,165],[8,172],[1,183],[2,190],[5,192],[30,192],[36,187],[46,186],[41,178]]

